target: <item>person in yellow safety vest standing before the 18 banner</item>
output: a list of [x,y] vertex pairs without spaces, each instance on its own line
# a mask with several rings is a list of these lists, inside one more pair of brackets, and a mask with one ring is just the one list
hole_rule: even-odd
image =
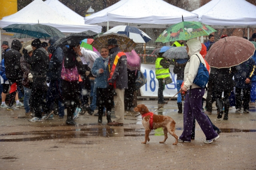
[[163,53],[158,53],[156,59],[156,79],[158,80],[158,104],[164,104],[164,78],[170,77],[168,59],[162,56]]

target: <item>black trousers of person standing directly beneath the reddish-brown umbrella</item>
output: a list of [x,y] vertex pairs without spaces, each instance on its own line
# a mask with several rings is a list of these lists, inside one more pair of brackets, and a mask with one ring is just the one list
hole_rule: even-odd
[[220,113],[222,111],[223,107],[225,108],[224,113],[228,114],[229,111],[229,96],[230,96],[231,91],[224,91],[224,105],[222,101],[222,91],[215,91],[215,97],[216,97],[216,106],[217,106],[217,111]]

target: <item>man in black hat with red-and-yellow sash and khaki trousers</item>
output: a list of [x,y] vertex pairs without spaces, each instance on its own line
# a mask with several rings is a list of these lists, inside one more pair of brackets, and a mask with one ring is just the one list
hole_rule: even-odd
[[109,61],[108,70],[110,77],[108,83],[114,86],[114,91],[117,95],[114,96],[115,104],[115,121],[108,123],[110,126],[122,126],[124,125],[124,89],[128,88],[128,76],[127,76],[127,57],[124,52],[121,51],[115,38],[108,39],[106,44],[109,49]]

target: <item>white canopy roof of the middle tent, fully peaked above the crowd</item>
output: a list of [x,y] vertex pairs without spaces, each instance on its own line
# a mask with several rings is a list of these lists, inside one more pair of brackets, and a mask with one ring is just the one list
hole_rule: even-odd
[[137,28],[168,28],[170,24],[198,21],[198,15],[173,6],[163,0],[120,0],[95,14],[86,16],[85,24],[114,27],[118,25]]

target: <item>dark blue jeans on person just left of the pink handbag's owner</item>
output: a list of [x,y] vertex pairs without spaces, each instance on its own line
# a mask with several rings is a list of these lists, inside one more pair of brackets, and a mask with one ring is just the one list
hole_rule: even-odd
[[46,95],[46,105],[54,109],[54,101],[58,99],[59,117],[64,117],[64,102],[62,98],[62,80],[51,80]]

